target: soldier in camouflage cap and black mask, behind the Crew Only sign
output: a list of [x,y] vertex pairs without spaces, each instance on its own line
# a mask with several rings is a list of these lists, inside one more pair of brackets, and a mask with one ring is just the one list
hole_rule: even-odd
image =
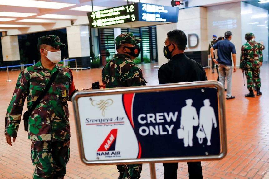
[[[140,53],[141,39],[132,33],[123,33],[116,37],[117,54],[102,70],[102,81],[106,88],[146,85],[141,69],[133,62]],[[140,178],[142,164],[117,165],[119,179]]]

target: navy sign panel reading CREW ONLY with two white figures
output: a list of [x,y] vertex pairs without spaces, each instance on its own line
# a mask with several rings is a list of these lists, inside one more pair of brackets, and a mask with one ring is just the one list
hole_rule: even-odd
[[[215,88],[206,88],[204,92],[189,89],[135,94],[134,130],[141,144],[141,158],[219,154],[217,99]],[[184,109],[190,114],[184,115]],[[198,118],[196,124],[195,118]],[[193,121],[193,124],[184,120]],[[196,136],[200,127],[205,134],[202,141]],[[179,139],[181,128],[188,132]]]

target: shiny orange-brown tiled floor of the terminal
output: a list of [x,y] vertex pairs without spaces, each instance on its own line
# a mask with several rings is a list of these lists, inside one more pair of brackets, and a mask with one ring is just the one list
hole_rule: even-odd
[[[158,84],[158,68],[153,68],[154,65],[157,63],[140,65],[148,86]],[[217,79],[217,73],[212,74],[209,69],[206,73],[208,79]],[[23,127],[20,127],[12,147],[7,145],[4,136],[4,118],[18,74],[19,71],[9,72],[12,82],[6,82],[7,72],[0,71],[0,178],[3,179],[31,178],[34,170],[30,160],[30,141]],[[76,88],[80,90],[91,87],[95,81],[101,82],[101,69],[73,70],[73,75]],[[233,73],[232,95],[236,98],[226,101],[228,154],[222,160],[202,162],[204,179],[269,179],[269,63],[263,64],[261,79],[262,96],[246,98],[244,94],[248,90],[241,70]],[[69,108],[71,158],[65,179],[116,179],[115,165],[87,166],[81,162],[71,102]],[[157,178],[163,179],[162,164],[156,163],[155,166]],[[141,178],[150,179],[149,164],[143,164]],[[188,179],[185,162],[179,163],[178,178]]]

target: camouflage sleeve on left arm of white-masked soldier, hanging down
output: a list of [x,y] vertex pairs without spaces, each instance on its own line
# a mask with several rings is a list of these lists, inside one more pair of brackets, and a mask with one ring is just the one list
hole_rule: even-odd
[[13,97],[7,108],[5,135],[9,137],[17,137],[24,101],[28,94],[29,83],[24,71],[19,74]]

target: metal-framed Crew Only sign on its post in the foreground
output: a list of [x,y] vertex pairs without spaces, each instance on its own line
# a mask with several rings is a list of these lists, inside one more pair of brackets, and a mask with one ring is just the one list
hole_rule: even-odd
[[76,92],[87,165],[219,160],[227,154],[224,87],[217,81]]

